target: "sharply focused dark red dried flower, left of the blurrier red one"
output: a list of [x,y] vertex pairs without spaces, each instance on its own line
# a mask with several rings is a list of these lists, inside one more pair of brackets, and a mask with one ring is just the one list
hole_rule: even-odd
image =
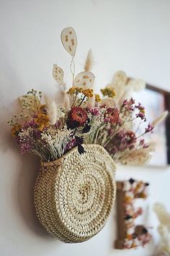
[[87,120],[87,114],[84,108],[73,106],[68,113],[68,127],[73,129],[76,127],[82,127]]

